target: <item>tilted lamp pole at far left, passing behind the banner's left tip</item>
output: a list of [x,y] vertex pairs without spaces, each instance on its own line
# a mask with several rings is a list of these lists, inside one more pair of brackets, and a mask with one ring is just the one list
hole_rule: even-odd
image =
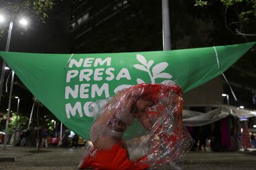
[[[9,26],[7,42],[6,42],[6,51],[9,51],[11,35],[12,35],[12,25],[13,25],[13,22],[11,21]],[[4,86],[4,75],[6,73],[5,68],[6,68],[6,62],[2,60],[2,72],[1,72],[1,78],[0,78],[0,105],[1,105],[1,98],[2,98],[2,87]]]

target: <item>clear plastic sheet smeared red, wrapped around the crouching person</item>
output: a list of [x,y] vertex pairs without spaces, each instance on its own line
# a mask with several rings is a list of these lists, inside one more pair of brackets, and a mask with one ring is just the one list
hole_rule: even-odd
[[[85,153],[80,168],[176,166],[193,144],[186,127],[182,126],[181,87],[174,83],[138,84],[97,104],[102,108],[90,130],[93,148]],[[127,142],[132,144],[129,152],[124,137],[137,137]]]

